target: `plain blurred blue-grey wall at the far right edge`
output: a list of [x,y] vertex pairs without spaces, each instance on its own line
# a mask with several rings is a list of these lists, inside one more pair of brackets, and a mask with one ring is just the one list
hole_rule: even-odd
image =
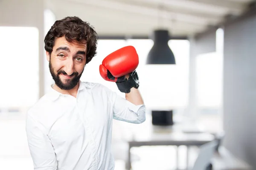
[[224,28],[224,145],[256,168],[256,15]]

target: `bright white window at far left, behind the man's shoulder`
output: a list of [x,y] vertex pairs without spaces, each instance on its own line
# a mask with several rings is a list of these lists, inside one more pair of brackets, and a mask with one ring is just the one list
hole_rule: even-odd
[[0,27],[0,108],[33,105],[39,96],[38,29]]

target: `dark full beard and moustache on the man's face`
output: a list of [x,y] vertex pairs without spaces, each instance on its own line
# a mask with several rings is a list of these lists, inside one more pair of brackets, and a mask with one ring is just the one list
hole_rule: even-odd
[[73,79],[67,80],[67,83],[64,84],[63,82],[61,82],[61,78],[59,75],[60,74],[67,75],[67,73],[63,70],[59,70],[58,73],[55,74],[53,67],[52,67],[51,60],[49,61],[49,69],[50,69],[50,73],[52,75],[52,79],[55,81],[55,84],[59,88],[61,88],[61,90],[71,90],[72,88],[74,88],[77,85],[77,83],[79,82],[80,77],[82,76],[82,73],[84,72],[84,69],[80,75],[78,75],[78,72],[74,72],[73,74],[71,74],[71,76],[74,75]]

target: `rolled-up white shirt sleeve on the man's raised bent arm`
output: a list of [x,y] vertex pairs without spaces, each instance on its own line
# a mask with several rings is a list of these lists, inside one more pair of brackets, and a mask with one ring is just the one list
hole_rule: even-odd
[[136,124],[145,121],[145,105],[134,105],[116,93],[114,96],[113,119]]

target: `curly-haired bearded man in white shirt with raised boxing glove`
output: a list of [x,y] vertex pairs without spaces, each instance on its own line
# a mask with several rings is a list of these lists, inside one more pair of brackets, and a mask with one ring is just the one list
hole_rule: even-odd
[[[129,66],[135,55],[133,49],[130,46],[110,54],[100,66],[102,77],[116,82],[125,92],[124,99],[99,83],[79,80],[84,66],[96,55],[97,34],[87,22],[78,17],[58,20],[44,42],[55,84],[26,117],[34,169],[113,170],[112,120],[145,121],[137,73],[134,65]],[[122,57],[122,63],[114,63],[120,60],[118,57]],[[118,65],[123,65],[122,69],[116,68]],[[120,71],[131,73],[121,77],[111,74]]]

